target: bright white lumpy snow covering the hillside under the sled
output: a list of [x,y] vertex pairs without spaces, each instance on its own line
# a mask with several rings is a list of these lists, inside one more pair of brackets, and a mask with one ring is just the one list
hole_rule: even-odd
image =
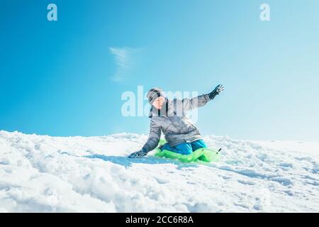
[[146,140],[0,131],[0,211],[319,211],[319,143],[206,135],[220,162],[128,159]]

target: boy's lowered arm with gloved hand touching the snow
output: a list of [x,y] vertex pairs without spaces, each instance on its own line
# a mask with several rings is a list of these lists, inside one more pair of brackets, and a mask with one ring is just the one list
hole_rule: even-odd
[[143,157],[147,155],[151,150],[155,149],[159,143],[159,139],[161,138],[161,128],[157,126],[153,118],[151,118],[150,122],[150,135],[148,139],[143,145],[142,149],[130,154],[128,157]]

